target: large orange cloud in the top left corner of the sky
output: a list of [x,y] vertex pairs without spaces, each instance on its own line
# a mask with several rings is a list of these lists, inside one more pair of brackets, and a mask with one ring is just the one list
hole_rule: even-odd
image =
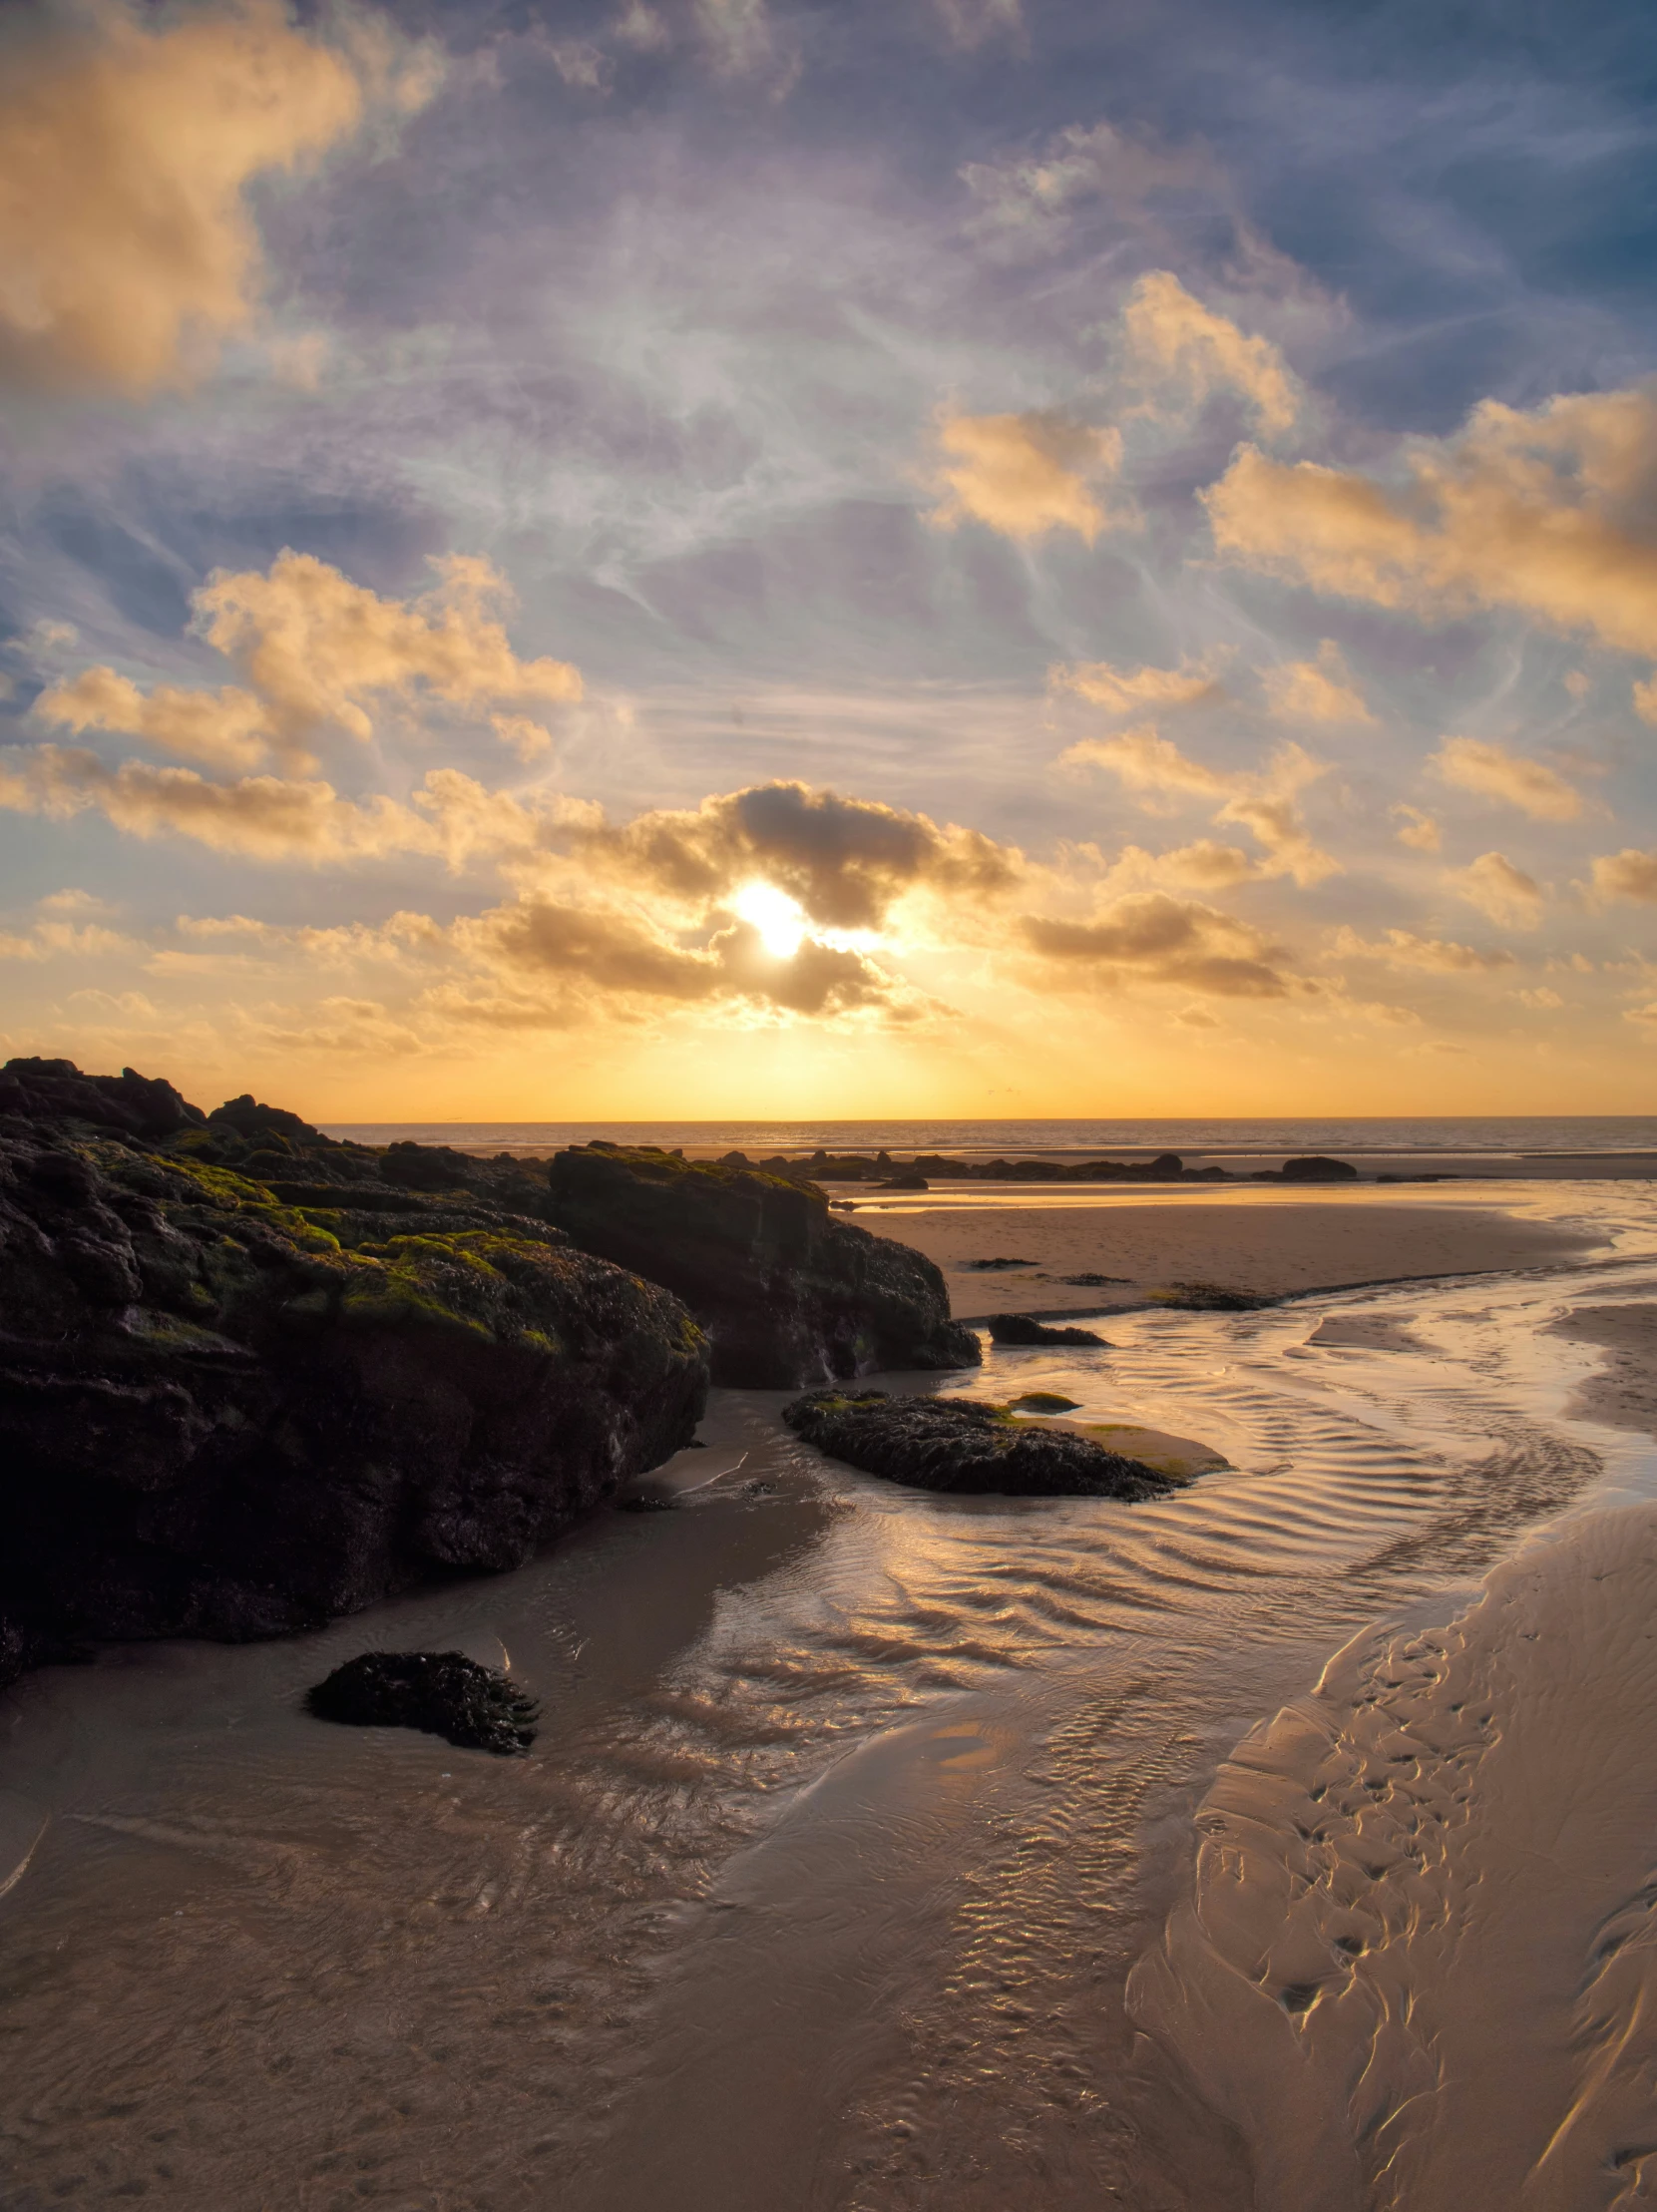
[[372,15],[325,42],[281,0],[159,13],[88,0],[0,75],[0,374],[146,394],[188,383],[252,323],[248,184],[414,111],[429,49]]

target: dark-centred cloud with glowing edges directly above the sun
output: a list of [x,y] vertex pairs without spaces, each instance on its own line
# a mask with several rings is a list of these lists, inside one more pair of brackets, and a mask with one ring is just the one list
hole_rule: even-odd
[[706,909],[748,883],[768,883],[799,900],[816,931],[880,929],[914,894],[982,907],[1026,874],[1018,847],[978,830],[803,783],[757,783],[622,825],[575,823],[571,852],[635,891],[686,907]]

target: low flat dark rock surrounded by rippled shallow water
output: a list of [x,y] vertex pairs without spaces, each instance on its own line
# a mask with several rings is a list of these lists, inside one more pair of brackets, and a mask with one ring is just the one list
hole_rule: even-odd
[[1088,1436],[1018,1420],[982,1398],[823,1389],[785,1405],[783,1420],[830,1458],[923,1491],[1139,1502],[1179,1486]]

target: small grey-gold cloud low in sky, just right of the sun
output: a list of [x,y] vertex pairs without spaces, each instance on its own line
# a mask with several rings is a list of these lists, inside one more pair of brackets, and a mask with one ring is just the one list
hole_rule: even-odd
[[1177,984],[1208,998],[1288,998],[1281,953],[1246,922],[1166,891],[1115,900],[1086,922],[1026,914],[1024,947],[1060,989]]

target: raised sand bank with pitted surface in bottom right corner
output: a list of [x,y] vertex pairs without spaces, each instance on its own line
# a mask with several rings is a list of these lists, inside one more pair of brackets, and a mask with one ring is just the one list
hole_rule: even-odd
[[1650,2201],[1655,1615],[1657,1509],[1584,1515],[1226,1761],[1128,2004],[1261,2205]]

